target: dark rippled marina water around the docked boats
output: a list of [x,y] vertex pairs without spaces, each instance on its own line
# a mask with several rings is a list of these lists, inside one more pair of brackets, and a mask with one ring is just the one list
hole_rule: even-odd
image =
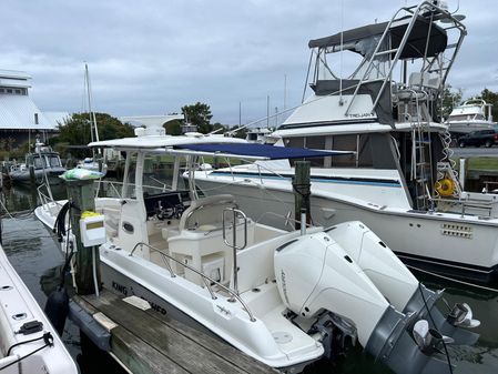
[[[12,214],[12,218],[3,214],[3,249],[19,275],[43,307],[47,301],[45,292],[52,290],[58,282],[63,255],[50,233],[32,212],[39,204],[35,193],[21,188],[12,188],[3,192],[3,203]],[[64,190],[53,192],[55,198],[64,196]],[[429,287],[446,289],[445,299],[450,305],[456,302],[468,303],[472,307],[475,316],[481,321],[481,325],[475,330],[480,337],[474,346],[448,347],[451,362],[457,365],[454,373],[496,374],[498,372],[498,293],[443,282],[425,274],[416,275]],[[498,287],[498,285],[494,286]],[[65,324],[62,338],[73,357],[79,356],[81,353],[80,335],[78,328],[70,322]],[[95,361],[94,356],[92,356],[92,361]],[[84,355],[79,356],[78,363],[83,366],[82,373],[95,373],[94,368],[89,370],[84,366],[88,363]],[[106,373],[109,373],[108,367],[106,363]],[[114,367],[114,372],[119,373],[120,371]],[[390,373],[386,367],[375,364],[372,357],[364,354],[359,347],[352,348],[347,356],[341,358],[332,370],[329,365],[318,363],[308,367],[306,372]]]

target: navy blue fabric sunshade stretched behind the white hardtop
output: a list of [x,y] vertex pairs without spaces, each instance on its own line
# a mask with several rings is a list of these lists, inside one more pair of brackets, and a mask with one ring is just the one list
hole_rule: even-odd
[[286,148],[257,143],[184,144],[175,145],[174,149],[206,152],[213,154],[223,153],[240,156],[256,156],[267,160],[326,158],[353,153],[347,151],[318,151],[304,148]]

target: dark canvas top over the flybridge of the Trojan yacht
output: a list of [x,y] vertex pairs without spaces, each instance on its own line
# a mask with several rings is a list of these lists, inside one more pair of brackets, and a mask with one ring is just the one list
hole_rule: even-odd
[[[399,21],[393,22],[389,28],[392,48],[399,47],[403,36],[410,22],[411,18],[407,17]],[[430,42],[427,50],[428,57],[434,57],[446,49],[448,37],[446,31],[423,17],[418,17],[410,32],[405,49],[402,52],[402,59],[419,58],[424,54],[427,41],[427,34],[430,27]],[[309,48],[331,48],[341,47],[353,52],[365,54],[365,48],[357,48],[357,43],[362,40],[373,37],[380,38],[388,22],[367,24],[360,28],[338,32],[334,36],[311,40]],[[376,41],[378,43],[378,40]]]

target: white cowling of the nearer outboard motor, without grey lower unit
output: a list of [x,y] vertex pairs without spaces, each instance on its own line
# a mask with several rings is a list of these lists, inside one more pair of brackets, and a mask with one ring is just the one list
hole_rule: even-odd
[[362,269],[329,235],[316,233],[275,251],[278,292],[303,317],[326,310],[352,322],[366,346],[389,303]]

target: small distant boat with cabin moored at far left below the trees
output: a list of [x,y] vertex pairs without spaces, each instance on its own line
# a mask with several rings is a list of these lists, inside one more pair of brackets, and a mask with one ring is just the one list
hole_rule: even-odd
[[8,175],[16,183],[59,184],[59,175],[64,171],[59,153],[37,140],[34,151],[26,155],[26,162],[11,165]]

